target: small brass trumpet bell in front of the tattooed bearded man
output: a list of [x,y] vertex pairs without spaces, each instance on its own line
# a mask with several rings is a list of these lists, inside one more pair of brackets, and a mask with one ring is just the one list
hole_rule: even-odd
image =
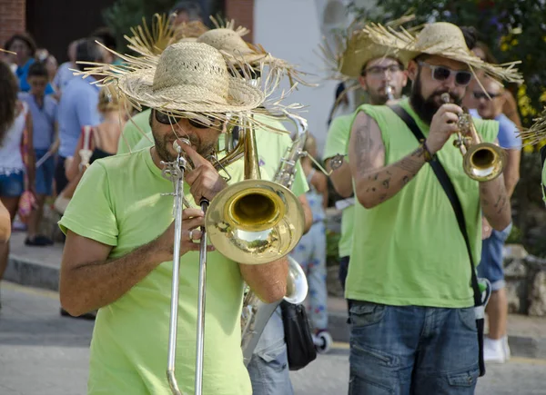
[[479,143],[470,146],[464,155],[464,172],[479,182],[494,180],[501,175],[506,163],[505,153],[492,143]]

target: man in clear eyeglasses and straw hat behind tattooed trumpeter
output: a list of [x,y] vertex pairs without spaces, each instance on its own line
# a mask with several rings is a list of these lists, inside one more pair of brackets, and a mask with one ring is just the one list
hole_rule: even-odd
[[[366,48],[366,50],[362,51],[362,48]],[[367,37],[363,35],[352,36],[351,43],[341,58],[343,59],[341,73],[349,78],[358,79],[361,88],[368,93],[369,104],[392,104],[399,100],[402,89],[408,83],[404,65],[399,59],[392,56],[386,57],[382,47],[369,43]],[[329,171],[332,171],[331,159],[333,157],[348,153],[350,124],[354,117],[354,114],[340,115],[329,126],[323,154]],[[330,174],[330,180],[336,192],[345,198],[336,202],[336,207],[342,211],[341,237],[339,238],[339,281],[345,290],[353,236],[355,201],[348,161],[344,161]]]

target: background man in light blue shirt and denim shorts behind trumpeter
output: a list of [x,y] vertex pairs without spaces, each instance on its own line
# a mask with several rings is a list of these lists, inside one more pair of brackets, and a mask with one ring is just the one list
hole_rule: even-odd
[[[502,113],[506,102],[503,85],[490,78],[480,78],[482,90],[477,81],[470,84],[471,94],[477,109],[470,114],[482,119],[493,119],[499,123],[499,145],[506,152],[504,184],[510,199],[520,179],[521,137],[515,123]],[[483,239],[481,261],[478,266],[480,277],[491,283],[491,296],[486,312],[489,318],[489,334],[484,339],[484,358],[491,362],[504,362],[510,359],[510,347],[506,335],[508,321],[508,299],[506,296],[504,271],[502,270],[502,246],[511,232],[511,224],[499,232],[491,228],[490,223],[482,220]]]

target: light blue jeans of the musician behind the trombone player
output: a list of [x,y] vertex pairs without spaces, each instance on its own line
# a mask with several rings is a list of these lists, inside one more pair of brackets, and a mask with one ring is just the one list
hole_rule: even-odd
[[292,395],[280,308],[273,313],[247,366],[254,395]]

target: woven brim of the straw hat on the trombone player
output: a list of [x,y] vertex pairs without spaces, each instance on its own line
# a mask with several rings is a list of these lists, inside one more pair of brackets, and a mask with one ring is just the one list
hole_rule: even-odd
[[229,77],[227,97],[197,85],[175,85],[154,89],[155,68],[136,70],[119,77],[117,86],[132,103],[174,113],[237,113],[261,105],[264,94],[241,79]]

